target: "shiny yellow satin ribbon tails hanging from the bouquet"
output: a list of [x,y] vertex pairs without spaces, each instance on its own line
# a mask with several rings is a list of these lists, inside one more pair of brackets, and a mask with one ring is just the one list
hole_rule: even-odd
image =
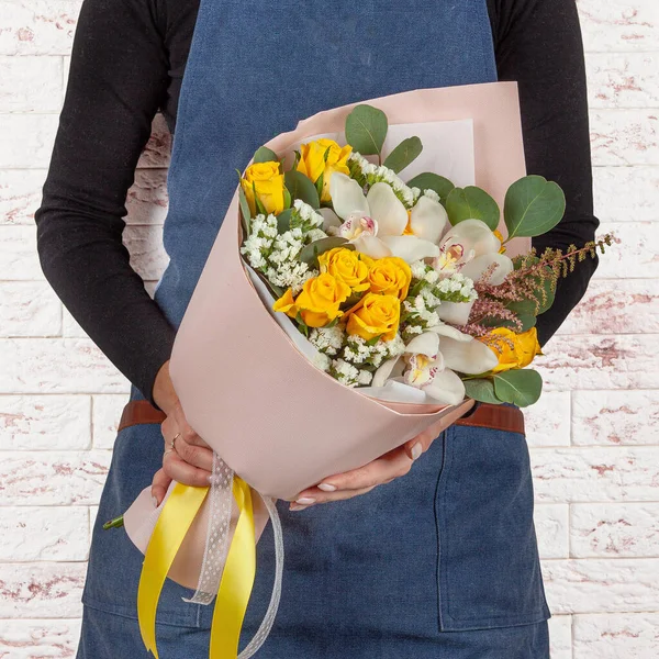
[[[148,543],[139,585],[137,617],[147,650],[158,657],[156,611],[174,559],[209,492],[176,483],[163,506]],[[215,601],[211,626],[210,659],[236,659],[243,619],[256,576],[254,511],[249,485],[234,476],[233,495],[241,512]]]

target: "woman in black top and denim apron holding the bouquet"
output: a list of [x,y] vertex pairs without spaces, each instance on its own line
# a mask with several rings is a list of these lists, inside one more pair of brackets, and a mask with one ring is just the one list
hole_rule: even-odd
[[[581,245],[597,226],[573,0],[197,2],[85,1],[36,214],[48,280],[133,383],[93,533],[79,659],[146,657],[135,613],[142,555],[102,522],[154,473],[157,501],[171,478],[208,482],[211,451],[186,422],[167,360],[235,189],[233,168],[257,146],[328,107],[517,80],[528,171],[556,180],[568,200],[562,222],[535,246]],[[164,232],[170,264],[153,301],[130,267],[122,216],[159,109],[177,135]],[[541,344],[595,266],[560,283],[538,322]],[[259,657],[549,656],[528,454],[518,411],[507,409],[516,421],[506,424],[502,410],[482,405],[434,442],[431,429],[300,493],[290,509],[279,502],[284,590]],[[271,554],[267,529],[243,644],[267,605]],[[170,581],[163,591],[167,659],[208,651],[212,610],[181,601],[190,595]]]

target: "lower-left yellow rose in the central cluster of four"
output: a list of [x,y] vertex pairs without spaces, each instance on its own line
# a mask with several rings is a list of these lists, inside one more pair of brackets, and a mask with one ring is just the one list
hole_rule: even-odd
[[348,286],[324,272],[308,279],[297,300],[293,300],[290,289],[286,291],[272,309],[286,313],[291,319],[298,317],[299,313],[309,327],[324,327],[343,315],[339,306],[349,295]]

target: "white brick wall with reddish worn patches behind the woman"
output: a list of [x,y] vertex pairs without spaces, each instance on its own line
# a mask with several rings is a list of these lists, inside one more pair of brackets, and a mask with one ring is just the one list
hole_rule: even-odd
[[[528,414],[554,659],[659,656],[659,3],[578,0],[596,212],[621,244],[547,346]],[[79,0],[0,0],[0,657],[72,657],[90,524],[127,383],[34,245]],[[149,282],[170,147],[154,125],[126,244]],[[153,283],[147,284],[152,288]]]

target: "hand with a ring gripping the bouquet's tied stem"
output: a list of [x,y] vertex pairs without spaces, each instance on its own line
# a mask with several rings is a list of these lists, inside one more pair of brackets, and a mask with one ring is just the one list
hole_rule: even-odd
[[165,439],[163,468],[156,472],[152,482],[152,496],[154,503],[159,505],[172,480],[197,487],[210,483],[213,450],[188,424],[169,377],[169,362],[158,371],[154,384],[154,399],[158,407],[167,414],[167,418],[160,425]]

